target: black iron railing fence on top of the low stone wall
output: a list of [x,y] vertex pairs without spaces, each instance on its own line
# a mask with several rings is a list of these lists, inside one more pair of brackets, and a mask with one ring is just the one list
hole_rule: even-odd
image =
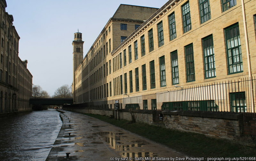
[[[255,112],[256,79],[242,78],[129,97],[119,101],[122,109],[171,111]],[[122,96],[121,96],[122,97]],[[101,99],[67,107],[114,108],[115,100]]]

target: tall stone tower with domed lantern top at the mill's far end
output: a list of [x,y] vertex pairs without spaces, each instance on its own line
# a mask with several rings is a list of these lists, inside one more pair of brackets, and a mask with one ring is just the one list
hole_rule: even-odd
[[83,45],[84,41],[82,41],[82,33],[74,33],[74,41],[73,45],[73,85],[72,85],[72,93],[73,93],[73,102],[76,103],[76,70],[78,66],[81,64],[84,58]]

